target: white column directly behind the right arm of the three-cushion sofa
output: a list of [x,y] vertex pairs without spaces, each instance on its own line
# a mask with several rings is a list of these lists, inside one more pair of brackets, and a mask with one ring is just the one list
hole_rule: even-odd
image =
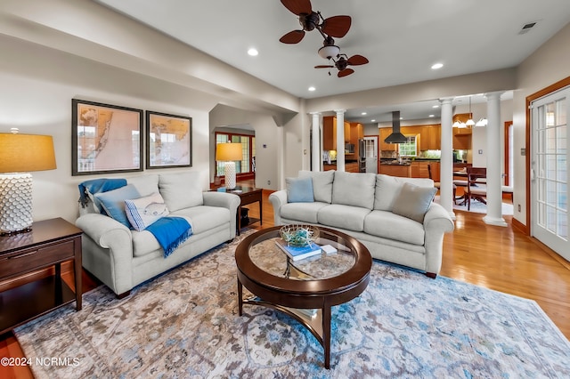
[[439,173],[439,204],[452,216],[453,213],[453,109],[452,99],[441,99],[442,104],[442,146]]

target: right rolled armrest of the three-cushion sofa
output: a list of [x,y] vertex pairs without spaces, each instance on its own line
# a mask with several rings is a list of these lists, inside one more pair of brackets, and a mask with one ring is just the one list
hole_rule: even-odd
[[438,274],[442,268],[444,234],[454,229],[450,214],[437,203],[432,203],[424,217],[426,230],[426,272]]

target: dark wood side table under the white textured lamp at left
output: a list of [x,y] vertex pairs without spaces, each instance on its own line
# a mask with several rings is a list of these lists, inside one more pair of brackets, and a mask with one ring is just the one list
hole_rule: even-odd
[[[0,293],[0,335],[74,300],[81,310],[82,233],[56,218],[34,222],[25,233],[0,236],[0,281],[55,267],[55,276]],[[74,262],[75,293],[61,279],[61,262],[66,261]]]

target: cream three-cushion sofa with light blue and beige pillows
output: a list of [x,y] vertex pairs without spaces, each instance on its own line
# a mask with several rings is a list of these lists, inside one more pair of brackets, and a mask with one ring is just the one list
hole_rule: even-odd
[[453,230],[453,222],[443,206],[432,202],[432,180],[300,171],[298,178],[287,179],[287,187],[269,197],[275,225],[340,230],[361,241],[375,259],[424,271],[430,278],[439,273],[444,233]]

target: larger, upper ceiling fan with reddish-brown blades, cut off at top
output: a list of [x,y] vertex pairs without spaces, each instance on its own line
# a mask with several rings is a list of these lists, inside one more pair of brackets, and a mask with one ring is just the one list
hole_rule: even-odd
[[300,30],[293,30],[279,39],[283,44],[298,44],[305,36],[305,31],[315,28],[319,30],[324,38],[336,36],[341,38],[346,35],[352,19],[350,16],[333,16],[323,19],[321,12],[314,12],[310,0],[281,0],[285,8],[297,14],[299,24],[303,27]]

